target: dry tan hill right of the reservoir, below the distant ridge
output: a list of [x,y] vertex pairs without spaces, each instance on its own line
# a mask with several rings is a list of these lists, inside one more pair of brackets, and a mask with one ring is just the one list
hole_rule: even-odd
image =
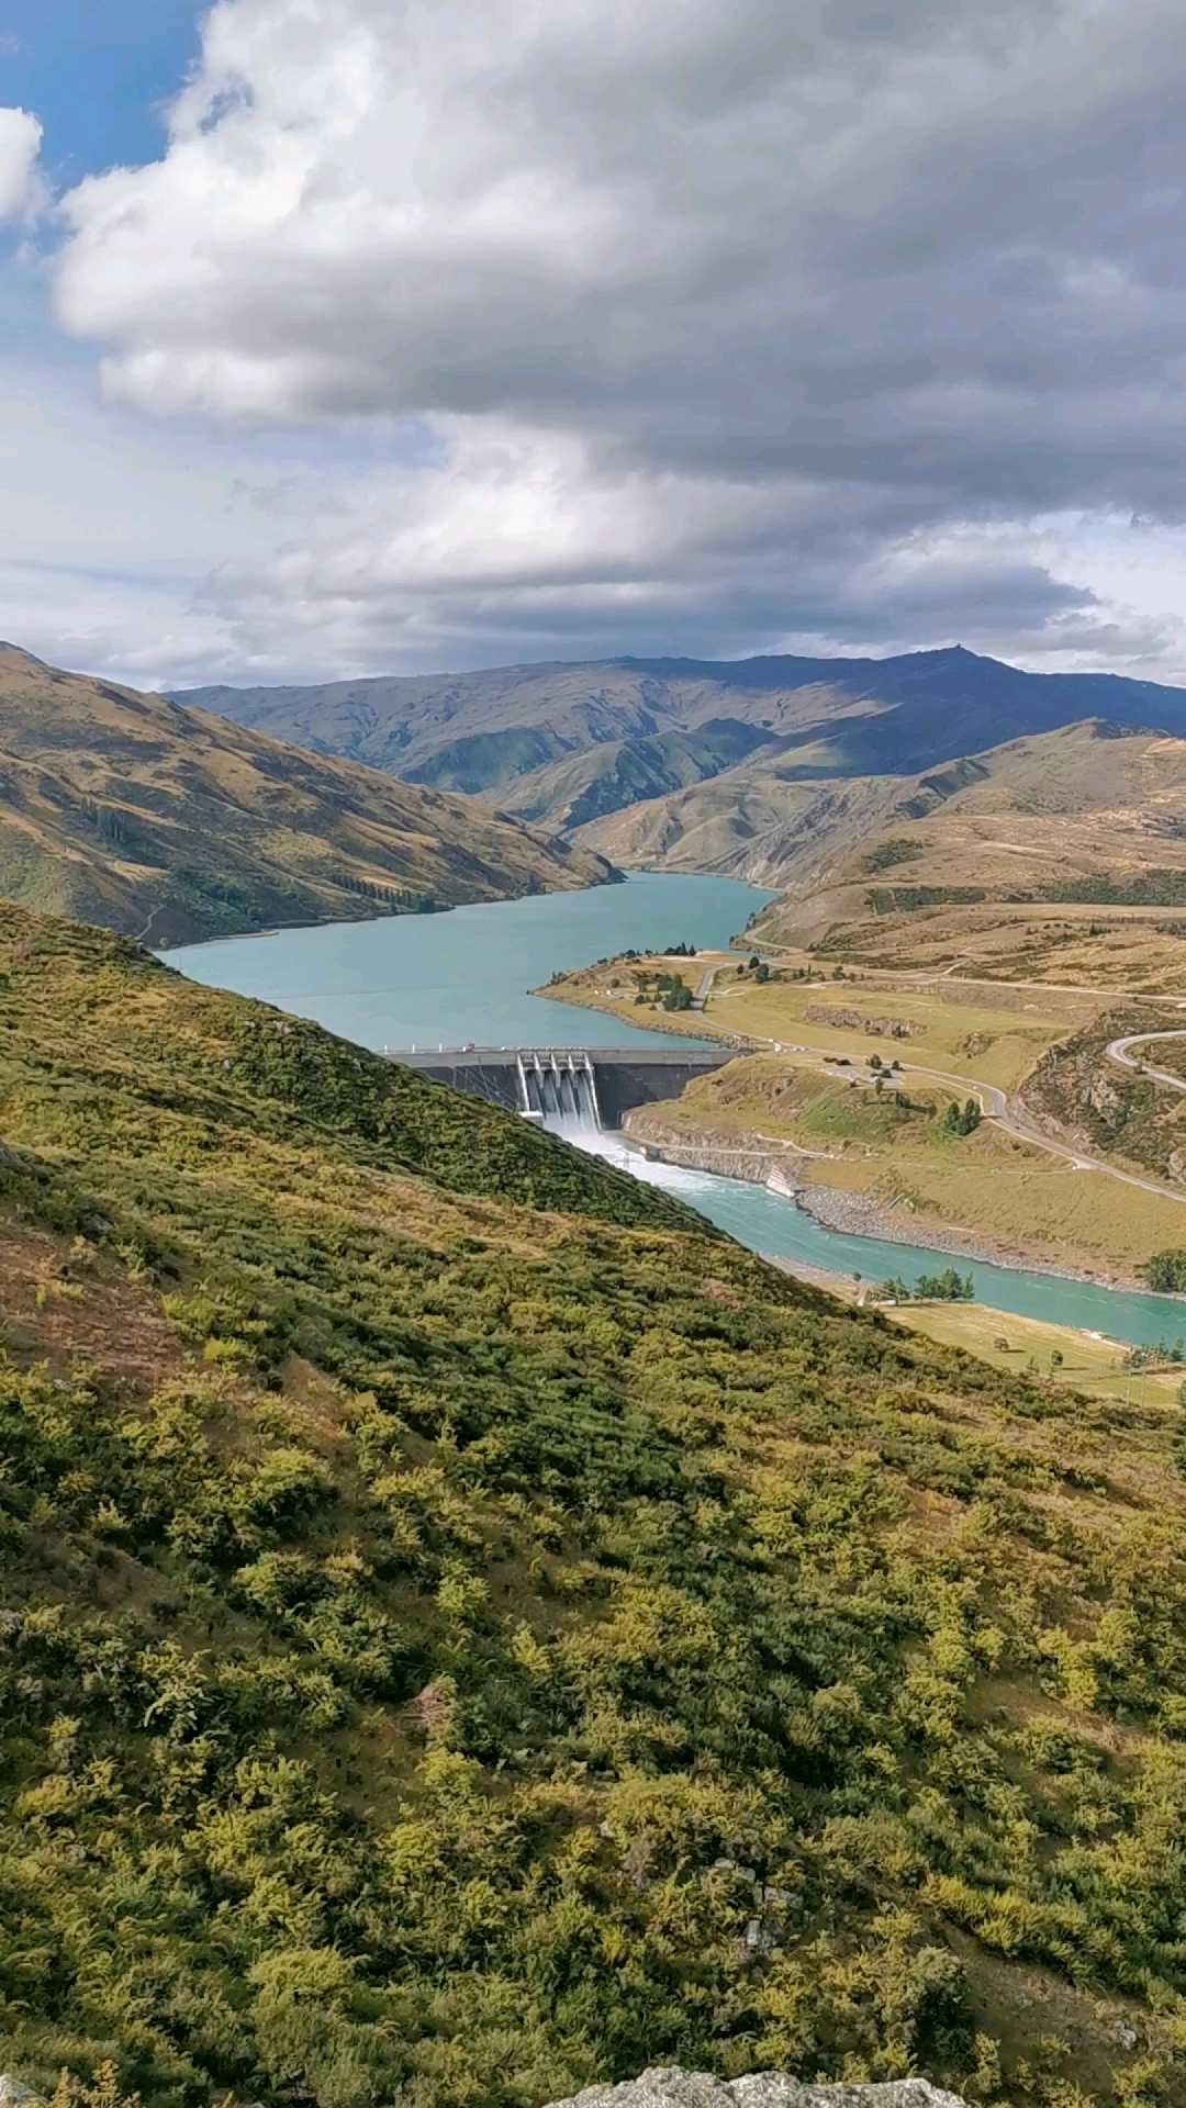
[[1089,721],[796,799],[722,860],[783,890],[768,938],[1085,987],[1186,974],[1186,740]]

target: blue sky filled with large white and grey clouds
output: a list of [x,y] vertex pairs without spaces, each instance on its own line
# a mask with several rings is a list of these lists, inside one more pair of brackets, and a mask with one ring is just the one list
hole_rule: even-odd
[[1186,683],[1180,0],[8,0],[0,637]]

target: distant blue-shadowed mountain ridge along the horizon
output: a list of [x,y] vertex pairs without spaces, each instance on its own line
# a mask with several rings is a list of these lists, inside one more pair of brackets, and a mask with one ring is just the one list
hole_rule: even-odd
[[1186,734],[1186,689],[1026,672],[954,645],[895,658],[614,658],[177,691],[234,723],[570,831],[743,769],[912,776],[1080,719]]

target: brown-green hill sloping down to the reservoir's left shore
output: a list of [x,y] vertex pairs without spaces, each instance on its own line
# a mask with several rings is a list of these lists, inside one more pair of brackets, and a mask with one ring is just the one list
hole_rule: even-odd
[[597,885],[468,799],[0,645],[0,894],[152,942]]

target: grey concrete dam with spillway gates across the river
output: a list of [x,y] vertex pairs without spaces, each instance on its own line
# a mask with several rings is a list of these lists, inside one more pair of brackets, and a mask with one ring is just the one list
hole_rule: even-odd
[[737,1060],[737,1048],[384,1048],[384,1056],[485,1098],[506,1113],[559,1126],[620,1128],[635,1105],[677,1098],[699,1075]]

